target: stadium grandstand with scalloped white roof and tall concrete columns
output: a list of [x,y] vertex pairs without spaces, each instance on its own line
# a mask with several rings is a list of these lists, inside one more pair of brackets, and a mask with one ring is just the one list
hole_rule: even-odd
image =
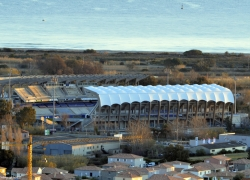
[[[222,86],[109,86],[85,87],[98,99],[96,122],[100,130],[124,129],[130,120],[147,121],[159,127],[173,120],[207,119],[211,125],[223,125],[233,109],[233,93]],[[212,122],[211,122],[212,121]]]

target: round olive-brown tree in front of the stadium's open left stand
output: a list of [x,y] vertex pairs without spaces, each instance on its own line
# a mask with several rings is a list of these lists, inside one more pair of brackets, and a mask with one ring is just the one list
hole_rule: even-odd
[[32,125],[36,121],[36,111],[32,107],[24,107],[16,113],[17,123],[23,127],[24,125]]

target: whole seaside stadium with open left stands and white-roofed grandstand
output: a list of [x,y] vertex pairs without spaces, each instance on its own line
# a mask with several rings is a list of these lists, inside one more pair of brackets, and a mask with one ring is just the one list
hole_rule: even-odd
[[[2,97],[32,106],[37,123],[63,130],[125,131],[140,120],[161,127],[176,120],[206,119],[210,126],[225,126],[233,115],[233,93],[216,84],[140,86],[147,75],[21,76],[0,80]],[[8,91],[5,91],[8,89]],[[8,94],[8,95],[7,95]]]

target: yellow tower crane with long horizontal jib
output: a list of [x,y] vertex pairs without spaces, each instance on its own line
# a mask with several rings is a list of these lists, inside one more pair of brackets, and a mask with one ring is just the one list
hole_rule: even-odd
[[[121,140],[130,141],[130,140],[142,140],[141,136],[124,136]],[[32,142],[32,135],[29,136],[28,142],[28,152],[27,152],[27,166],[28,166],[28,180],[32,180],[32,146],[35,144],[42,144],[43,146],[47,144],[54,144],[54,143],[74,143],[74,142],[98,142],[98,141],[112,141],[112,140],[120,140],[119,137],[100,137],[100,138],[77,138],[77,139],[68,139],[68,140],[51,140],[51,141],[36,141]],[[9,144],[10,146],[15,146],[17,144]],[[7,145],[8,146],[8,145]]]

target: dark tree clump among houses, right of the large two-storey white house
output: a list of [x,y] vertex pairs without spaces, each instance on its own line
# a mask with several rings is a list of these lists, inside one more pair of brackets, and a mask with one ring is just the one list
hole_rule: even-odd
[[166,147],[165,159],[167,161],[188,161],[189,151],[185,150],[183,146],[172,144]]

